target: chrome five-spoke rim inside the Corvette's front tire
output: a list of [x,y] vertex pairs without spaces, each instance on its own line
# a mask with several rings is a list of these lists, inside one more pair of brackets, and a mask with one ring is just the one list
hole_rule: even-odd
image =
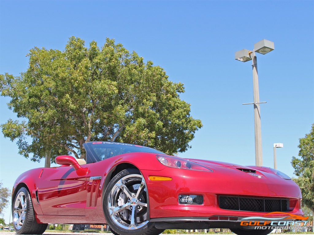
[[109,193],[108,210],[112,221],[122,229],[144,227],[149,221],[143,176],[130,174],[118,179]]

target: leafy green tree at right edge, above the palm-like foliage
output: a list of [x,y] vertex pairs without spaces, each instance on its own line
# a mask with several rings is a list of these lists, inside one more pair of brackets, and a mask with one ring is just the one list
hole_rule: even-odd
[[310,162],[314,160],[314,123],[309,134],[306,134],[304,138],[300,138],[299,144],[299,157],[301,159],[292,157],[291,164],[295,169],[295,175],[299,176],[306,167],[310,166]]

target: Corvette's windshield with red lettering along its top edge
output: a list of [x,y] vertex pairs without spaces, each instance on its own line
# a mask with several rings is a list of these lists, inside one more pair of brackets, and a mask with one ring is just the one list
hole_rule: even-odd
[[156,149],[152,149],[149,147],[117,142],[88,142],[84,143],[83,147],[86,150],[87,163],[98,162],[119,154],[126,153],[146,152],[164,154]]

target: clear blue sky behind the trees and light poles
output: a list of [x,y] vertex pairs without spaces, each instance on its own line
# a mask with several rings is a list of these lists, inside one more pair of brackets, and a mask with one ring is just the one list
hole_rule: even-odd
[[[263,165],[293,176],[299,138],[314,123],[314,1],[6,1],[0,0],[0,74],[27,70],[28,51],[63,50],[70,36],[116,39],[130,51],[184,83],[181,98],[191,104],[203,128],[180,157],[255,165],[251,61],[235,52],[262,39],[275,50],[257,54]],[[15,113],[0,97],[0,123]],[[17,176],[44,166],[18,154],[0,133],[0,180],[12,188]],[[4,219],[9,222],[9,210]],[[12,219],[11,219],[12,221]]]

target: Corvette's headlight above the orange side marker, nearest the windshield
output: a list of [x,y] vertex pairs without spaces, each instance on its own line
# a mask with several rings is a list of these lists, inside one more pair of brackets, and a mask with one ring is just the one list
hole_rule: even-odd
[[185,160],[183,158],[178,158],[178,157],[169,156],[169,155],[157,155],[156,157],[158,161],[165,166],[179,168],[179,169],[202,170],[202,171],[213,172],[213,170],[209,169],[206,166],[203,166],[201,164],[198,164],[189,160]]

